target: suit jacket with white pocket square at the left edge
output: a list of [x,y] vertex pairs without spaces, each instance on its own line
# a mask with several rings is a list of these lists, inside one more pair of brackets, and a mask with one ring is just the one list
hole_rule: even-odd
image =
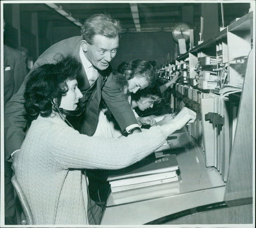
[[26,67],[21,52],[4,45],[4,109],[24,81],[27,74]]

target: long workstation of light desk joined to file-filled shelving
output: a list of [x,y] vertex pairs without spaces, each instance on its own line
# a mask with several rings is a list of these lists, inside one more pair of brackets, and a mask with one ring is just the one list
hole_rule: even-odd
[[[101,224],[145,224],[187,209],[192,210],[191,217],[165,224],[252,224],[252,17],[253,12],[249,12],[156,71],[161,85],[181,64],[187,65],[179,71],[187,72],[188,83],[181,77],[163,94],[170,108],[179,111],[188,107],[197,113],[195,123],[188,128],[194,146],[175,152],[182,181],[119,195],[111,193]],[[216,57],[214,69],[222,69],[216,71],[219,81],[213,89],[197,86],[198,58],[206,56]],[[232,93],[226,93],[232,89]],[[217,202],[226,207],[205,213],[193,210]],[[237,216],[230,216],[232,213]]]

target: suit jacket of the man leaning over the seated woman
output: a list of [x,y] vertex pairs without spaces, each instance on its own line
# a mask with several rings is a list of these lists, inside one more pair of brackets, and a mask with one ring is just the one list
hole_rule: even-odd
[[[56,54],[65,55],[69,53],[72,56],[76,56],[81,61],[79,57],[80,46],[81,36],[71,37],[52,45],[37,59],[30,72],[40,65],[54,62]],[[86,91],[90,85],[84,68],[82,73],[83,77],[77,78],[78,87],[83,93],[85,99],[89,101],[88,103],[82,104],[84,106],[84,114],[82,115],[83,119],[80,120],[80,133],[91,136],[95,132],[98,123],[101,97],[108,105],[109,110],[113,113],[123,131],[127,126],[137,124],[129,102],[125,99],[124,93],[121,89],[116,85],[111,66],[109,66],[107,70],[99,71],[100,77],[97,80],[97,85],[93,89],[89,99],[86,97]],[[9,158],[13,151],[20,149],[25,137],[24,129],[27,126],[27,122],[25,119],[26,111],[22,103],[24,102],[23,94],[28,75],[24,83],[21,85],[18,93],[15,94],[6,105],[5,115],[7,116],[7,120],[4,124],[4,128],[7,158]],[[106,76],[107,80],[103,83],[103,78]]]

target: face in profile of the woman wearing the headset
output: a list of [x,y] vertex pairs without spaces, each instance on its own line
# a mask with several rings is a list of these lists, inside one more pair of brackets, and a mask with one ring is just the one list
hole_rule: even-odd
[[77,81],[68,80],[68,92],[62,96],[60,102],[60,108],[73,111],[77,108],[78,99],[83,97],[80,89],[77,87]]

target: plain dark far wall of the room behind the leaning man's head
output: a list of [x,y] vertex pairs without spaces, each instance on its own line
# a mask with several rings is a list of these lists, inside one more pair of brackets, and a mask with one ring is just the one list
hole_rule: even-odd
[[[53,43],[76,35],[81,35],[78,27],[54,27]],[[166,62],[164,57],[168,52],[173,52],[174,47],[172,32],[122,33],[116,57],[111,65],[116,69],[123,61],[134,59],[155,60],[156,65],[163,65]]]

